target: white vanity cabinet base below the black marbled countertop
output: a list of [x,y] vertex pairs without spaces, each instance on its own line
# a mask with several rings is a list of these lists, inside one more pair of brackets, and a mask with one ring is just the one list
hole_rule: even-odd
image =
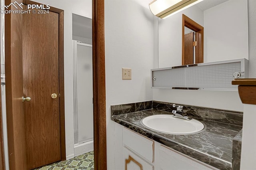
[[123,127],[125,170],[217,170]]

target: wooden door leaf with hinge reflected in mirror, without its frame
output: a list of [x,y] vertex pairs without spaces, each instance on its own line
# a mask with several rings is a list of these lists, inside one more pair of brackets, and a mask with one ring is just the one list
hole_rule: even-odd
[[194,32],[190,32],[184,35],[184,47],[185,47],[185,55],[184,55],[184,65],[193,64],[194,63]]

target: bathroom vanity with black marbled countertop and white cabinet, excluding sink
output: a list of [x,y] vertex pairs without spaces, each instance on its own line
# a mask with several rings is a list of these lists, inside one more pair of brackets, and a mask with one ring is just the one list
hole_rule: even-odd
[[[189,117],[204,124],[200,132],[185,135],[162,133],[141,123],[142,119],[151,115],[172,115],[175,109],[171,103],[158,101],[111,107],[112,121],[122,125],[123,150],[120,156],[124,169],[230,170],[232,157],[236,157],[239,169],[240,159],[236,154],[241,151],[236,142],[237,145],[233,146],[233,138],[242,129],[241,112],[184,106],[184,112]],[[234,149],[238,150],[232,154]]]

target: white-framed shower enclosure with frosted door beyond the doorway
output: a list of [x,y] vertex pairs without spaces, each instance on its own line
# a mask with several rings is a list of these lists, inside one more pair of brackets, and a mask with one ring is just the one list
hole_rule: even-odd
[[73,41],[74,156],[93,150],[92,45]]

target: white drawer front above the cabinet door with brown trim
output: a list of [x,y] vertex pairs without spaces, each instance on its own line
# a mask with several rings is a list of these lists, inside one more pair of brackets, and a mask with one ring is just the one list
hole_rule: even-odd
[[154,140],[123,128],[123,146],[132,150],[148,162],[154,162]]

